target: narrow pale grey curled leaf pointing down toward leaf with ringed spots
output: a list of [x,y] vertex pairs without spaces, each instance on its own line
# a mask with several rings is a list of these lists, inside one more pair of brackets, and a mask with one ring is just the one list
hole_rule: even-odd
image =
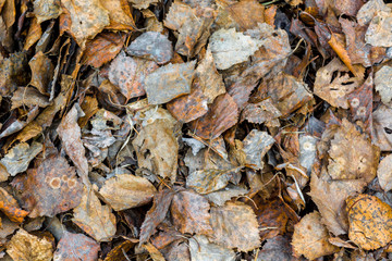
[[83,183],[85,186],[89,186],[88,163],[85,156],[85,148],[83,147],[81,140],[81,127],[77,125],[77,119],[81,116],[84,116],[84,113],[79,105],[75,103],[69,113],[62,119],[57,132],[66,154],[75,164]]

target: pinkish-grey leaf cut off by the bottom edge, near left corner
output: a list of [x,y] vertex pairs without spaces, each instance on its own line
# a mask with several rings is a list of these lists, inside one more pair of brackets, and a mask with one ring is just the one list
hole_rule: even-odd
[[73,234],[65,231],[57,246],[53,261],[97,260],[99,250],[99,244],[94,239],[83,234]]

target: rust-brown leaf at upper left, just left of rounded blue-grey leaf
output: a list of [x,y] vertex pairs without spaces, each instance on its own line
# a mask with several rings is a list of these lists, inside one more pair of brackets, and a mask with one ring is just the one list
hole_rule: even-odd
[[83,53],[82,63],[100,67],[110,62],[124,45],[125,35],[105,32],[87,41]]

